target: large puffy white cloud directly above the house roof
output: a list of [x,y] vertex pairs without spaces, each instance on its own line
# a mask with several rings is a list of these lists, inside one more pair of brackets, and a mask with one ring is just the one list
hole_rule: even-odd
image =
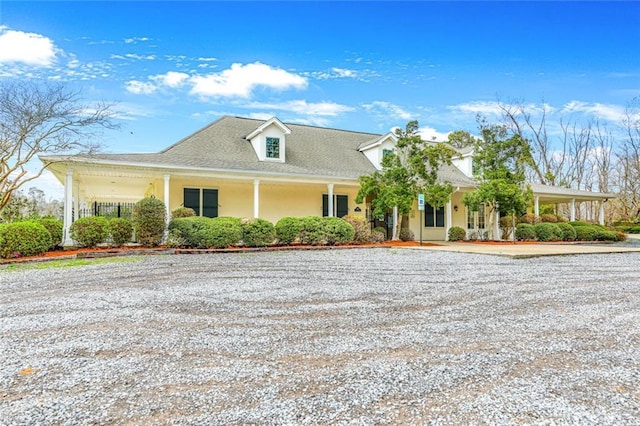
[[260,62],[242,65],[235,63],[220,73],[191,78],[191,93],[212,97],[248,98],[257,87],[284,90],[304,89],[307,79],[280,68],[273,68]]

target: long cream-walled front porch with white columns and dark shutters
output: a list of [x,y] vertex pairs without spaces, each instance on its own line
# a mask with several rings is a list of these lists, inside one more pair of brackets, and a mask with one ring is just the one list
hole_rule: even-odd
[[358,182],[341,179],[295,179],[279,176],[239,176],[181,170],[65,167],[53,165],[64,191],[65,246],[73,245],[69,228],[83,215],[102,215],[96,206],[132,205],[145,197],[162,200],[168,213],[185,206],[200,216],[263,218],[276,223],[285,216],[365,214],[356,205]]

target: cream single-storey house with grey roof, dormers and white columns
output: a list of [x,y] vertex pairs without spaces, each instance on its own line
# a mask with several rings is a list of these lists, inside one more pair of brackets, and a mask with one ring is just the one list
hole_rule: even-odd
[[[356,204],[358,177],[380,168],[393,133],[374,134],[269,120],[225,116],[158,153],[42,156],[64,185],[64,244],[72,245],[69,227],[90,206],[133,203],[154,196],[168,212],[179,206],[208,217],[260,217],[272,222],[284,216],[369,215]],[[483,232],[489,212],[469,212],[464,192],[475,182],[473,152],[460,151],[440,177],[456,189],[440,209],[417,202],[409,226],[424,240],[445,240],[451,226]],[[571,216],[581,201],[600,202],[612,194],[532,185],[535,206],[570,203]],[[97,208],[95,209],[97,211]],[[422,219],[421,219],[422,218]],[[390,218],[376,225],[392,226]],[[422,229],[420,229],[422,228]],[[498,230],[489,230],[498,235]]]

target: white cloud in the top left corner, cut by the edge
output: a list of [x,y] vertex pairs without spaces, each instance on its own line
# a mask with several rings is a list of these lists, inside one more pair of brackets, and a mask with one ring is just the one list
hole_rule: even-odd
[[23,63],[50,67],[56,60],[57,51],[53,41],[43,35],[0,26],[0,64]]

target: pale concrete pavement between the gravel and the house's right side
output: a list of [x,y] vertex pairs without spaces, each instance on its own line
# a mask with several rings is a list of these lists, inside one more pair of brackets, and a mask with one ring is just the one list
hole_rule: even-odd
[[[634,237],[631,237],[634,238]],[[598,253],[640,253],[640,245],[623,247],[614,244],[477,244],[465,242],[438,242],[438,245],[402,247],[414,250],[453,251],[458,253],[489,254],[514,259],[541,256],[567,256]]]

